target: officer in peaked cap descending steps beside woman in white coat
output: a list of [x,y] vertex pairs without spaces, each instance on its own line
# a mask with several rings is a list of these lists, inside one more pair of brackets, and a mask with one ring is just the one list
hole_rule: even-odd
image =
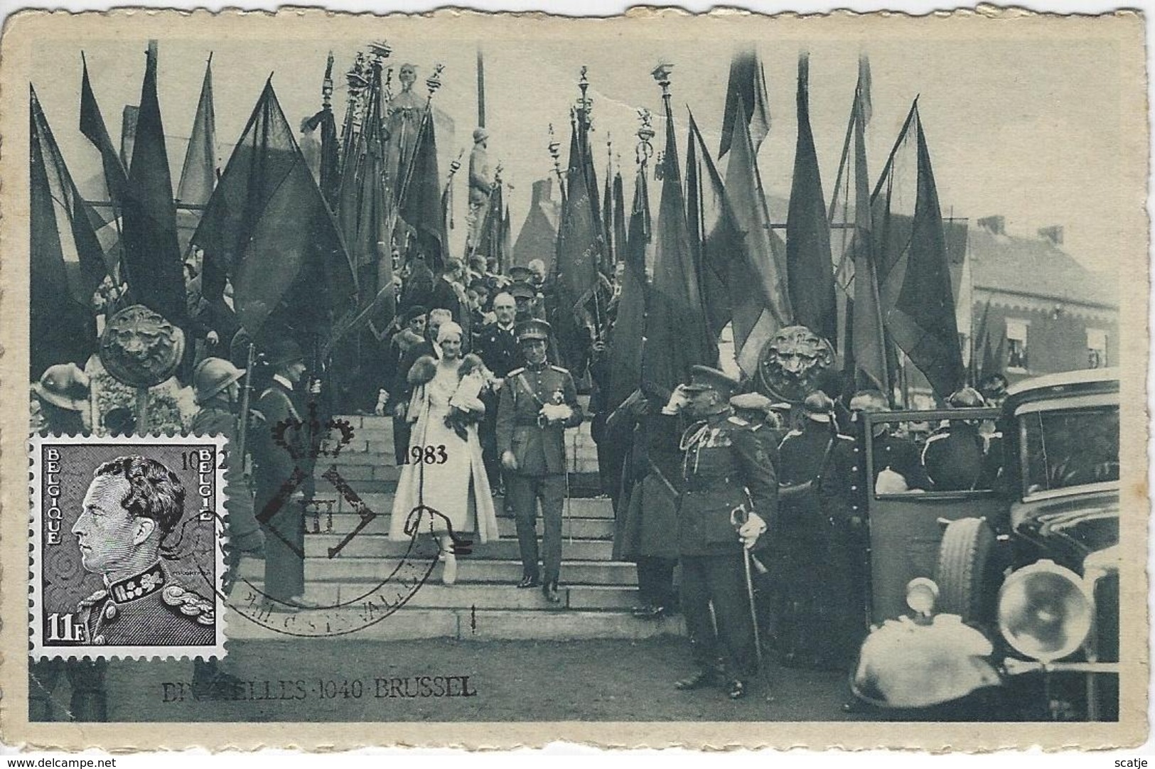
[[[528,320],[517,326],[526,366],[509,372],[498,406],[498,450],[506,470],[506,493],[517,525],[522,578],[519,588],[542,585],[557,603],[561,570],[561,508],[566,490],[565,428],[581,424],[573,376],[545,358],[550,324]],[[544,581],[537,568],[537,501],[545,520]]]

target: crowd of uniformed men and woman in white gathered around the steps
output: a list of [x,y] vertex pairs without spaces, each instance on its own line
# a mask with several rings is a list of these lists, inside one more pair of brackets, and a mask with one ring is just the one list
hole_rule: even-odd
[[[236,441],[243,388],[254,388],[249,456],[233,456],[229,468],[230,572],[246,553],[261,557],[271,602],[314,606],[304,580],[314,457],[307,447],[286,451],[274,428],[301,425],[295,440],[319,440],[307,434],[316,372],[308,371],[297,342],[280,338],[261,345],[261,371],[246,378],[236,349],[228,349],[237,333],[229,292],[221,306],[209,306],[196,291],[195,266],[187,277],[200,330],[189,378],[196,406],[181,426]],[[605,284],[612,318],[616,281]],[[559,602],[569,493],[564,436],[593,418],[602,491],[614,506],[613,557],[636,563],[634,613],[685,617],[698,667],[679,688],[720,686],[731,697],[744,696],[763,649],[784,664],[847,667],[867,629],[866,490],[916,493],[994,483],[998,435],[986,423],[964,420],[926,426],[921,435],[875,423],[869,436],[874,477],[866,478],[867,436],[857,416],[887,411],[889,400],[877,390],[848,397],[841,383],[791,404],[699,366],[672,389],[646,383],[614,408],[601,408],[605,345],[591,344],[591,365],[575,378],[557,365],[557,338],[546,320],[552,312],[541,260],[508,275],[482,257],[468,264],[450,259],[439,276],[420,259],[401,270],[396,315],[387,328],[372,328],[377,346],[363,349],[353,405],[393,419],[402,472],[390,537],[435,537],[442,581],[454,584],[457,543],[497,539],[501,499],[516,523],[523,567],[517,587]],[[90,387],[90,374],[75,364],[50,367],[32,388],[39,427],[131,433],[131,410],[94,413]],[[594,413],[583,413],[579,387],[593,391]],[[948,404],[997,404],[1005,388],[996,375],[982,391],[964,388]],[[251,469],[252,493],[239,491],[246,488],[243,468]],[[204,665],[202,678],[217,674]]]

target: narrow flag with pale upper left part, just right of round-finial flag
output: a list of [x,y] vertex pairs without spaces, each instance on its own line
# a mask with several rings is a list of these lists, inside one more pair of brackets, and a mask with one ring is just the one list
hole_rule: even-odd
[[706,315],[710,331],[717,338],[732,320],[730,262],[743,259],[745,242],[722,187],[722,177],[706,150],[693,112],[690,113],[686,149],[686,224],[700,270],[698,277]]

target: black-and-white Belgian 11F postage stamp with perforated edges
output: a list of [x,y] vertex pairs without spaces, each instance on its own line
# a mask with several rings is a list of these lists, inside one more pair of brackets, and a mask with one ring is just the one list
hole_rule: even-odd
[[30,447],[31,657],[224,657],[225,441]]

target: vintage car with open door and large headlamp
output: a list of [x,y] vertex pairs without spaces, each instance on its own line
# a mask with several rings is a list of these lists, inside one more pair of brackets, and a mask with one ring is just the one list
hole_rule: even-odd
[[[855,694],[895,717],[1117,719],[1117,374],[1027,380],[998,410],[865,420],[909,435],[969,425],[998,469],[961,490],[870,495],[872,629]],[[866,449],[875,477],[885,458]]]

